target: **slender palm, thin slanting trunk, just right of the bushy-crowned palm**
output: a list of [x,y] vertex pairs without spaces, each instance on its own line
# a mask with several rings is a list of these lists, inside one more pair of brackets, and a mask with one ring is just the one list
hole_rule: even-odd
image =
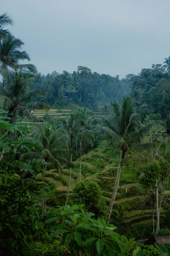
[[[56,126],[60,125],[67,131],[67,134],[71,139],[71,150],[73,149],[73,138],[78,134],[78,129],[81,126],[83,120],[85,120],[85,118],[81,114],[81,112],[74,111],[73,113],[70,113],[68,115],[66,120],[64,118],[60,118],[56,122]],[[71,154],[70,161],[72,162],[72,154]],[[70,190],[71,172],[72,172],[72,167],[70,167],[70,176],[69,176],[69,181],[68,181],[68,190],[67,190],[65,205],[67,204],[68,194],[69,194],[69,190]]]

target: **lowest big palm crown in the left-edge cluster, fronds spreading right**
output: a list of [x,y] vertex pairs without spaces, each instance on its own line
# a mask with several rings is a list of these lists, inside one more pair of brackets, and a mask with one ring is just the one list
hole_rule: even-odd
[[8,111],[11,123],[16,121],[17,115],[28,117],[34,122],[43,122],[30,113],[30,110],[48,110],[50,106],[42,102],[34,102],[37,96],[45,96],[42,89],[31,90],[35,74],[24,71],[22,66],[18,71],[2,70],[5,88],[0,85],[0,105]]

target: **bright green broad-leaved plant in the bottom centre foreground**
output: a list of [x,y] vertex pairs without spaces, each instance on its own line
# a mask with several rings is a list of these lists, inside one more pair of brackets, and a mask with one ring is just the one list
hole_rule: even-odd
[[88,251],[92,255],[127,255],[128,249],[135,243],[134,239],[128,241],[125,236],[114,231],[115,226],[107,225],[104,219],[91,218],[94,214],[84,212],[82,207],[83,205],[60,207],[61,212],[47,220],[50,223],[60,219],[61,223],[50,227],[57,229],[50,237],[63,234],[61,244],[69,245],[72,242],[75,250]]

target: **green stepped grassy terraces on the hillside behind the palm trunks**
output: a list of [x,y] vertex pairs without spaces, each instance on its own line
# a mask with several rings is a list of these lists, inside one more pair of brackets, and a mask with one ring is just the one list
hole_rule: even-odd
[[[105,167],[101,168],[98,166],[97,159],[103,158]],[[102,143],[98,148],[92,149],[88,154],[87,158],[82,157],[82,180],[94,180],[96,181],[102,191],[103,198],[109,203],[111,198],[112,189],[115,182],[115,176],[117,171],[119,155],[118,151],[112,149],[106,142]],[[78,182],[78,171],[79,171],[79,159],[74,162],[75,167],[72,169],[72,179],[70,186],[70,194],[68,204],[74,203],[73,188]],[[55,170],[50,170],[46,174],[46,181],[53,184],[55,189],[51,192],[47,198],[47,208],[62,205],[64,203],[67,184],[68,184],[69,170],[64,169],[60,176]],[[41,174],[38,175],[41,179]],[[127,188],[127,193],[126,193]],[[130,188],[139,188],[134,193],[130,192]],[[137,193],[138,192],[138,193]],[[170,191],[167,191],[169,194]],[[121,205],[124,211],[124,226],[126,230],[129,230],[135,223],[136,219],[140,215],[144,205],[147,194],[143,194],[143,189],[140,184],[137,183],[137,175],[125,166],[122,169],[121,181],[118,190],[118,195],[115,201],[115,208]],[[161,211],[161,215],[164,211]],[[156,217],[156,210],[155,210]],[[161,217],[162,218],[162,217]],[[137,224],[135,225],[150,225],[152,223],[152,209],[150,204],[147,205],[145,211],[141,215]]]

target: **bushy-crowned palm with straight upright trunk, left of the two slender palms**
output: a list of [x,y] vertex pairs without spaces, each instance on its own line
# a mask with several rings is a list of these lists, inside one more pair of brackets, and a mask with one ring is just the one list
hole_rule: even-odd
[[[48,165],[45,165],[45,171],[50,170],[50,164],[53,165],[54,169],[58,170],[59,173],[62,171],[62,164],[73,167],[74,165],[69,160],[63,158],[63,156],[69,156],[74,154],[73,150],[67,149],[67,143],[64,139],[63,129],[54,129],[51,124],[38,125],[35,128],[32,136],[42,144],[42,151],[31,153],[33,157],[44,159]],[[24,157],[28,157],[29,153],[25,154]],[[42,172],[42,181],[45,181],[45,172]],[[43,189],[43,202],[42,202],[42,214],[46,212],[46,200],[45,190]]]

